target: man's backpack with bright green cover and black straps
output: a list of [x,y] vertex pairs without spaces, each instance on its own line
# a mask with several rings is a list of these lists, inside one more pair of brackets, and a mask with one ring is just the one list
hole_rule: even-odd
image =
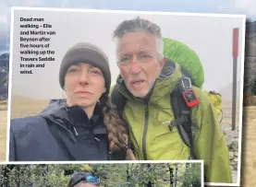
[[[193,52],[186,44],[175,41],[172,39],[163,38],[164,41],[164,55],[168,58],[168,63],[175,66],[175,63],[180,64],[182,69],[181,81],[187,81],[191,83],[192,86],[197,88],[202,88],[204,82],[204,72],[201,64],[201,60],[197,53]],[[188,81],[187,81],[188,82]],[[190,110],[193,105],[199,104],[197,96],[194,94],[192,88],[189,88],[190,96],[194,96],[195,102],[190,102],[186,100],[186,93],[184,90],[180,89],[181,82],[177,85],[177,89],[173,91],[170,95],[171,105],[174,110],[176,120],[169,124],[170,131],[174,126],[177,126],[178,133],[180,134],[184,143],[190,148],[190,158],[196,159],[193,150],[193,130],[198,130],[197,127],[193,126],[190,119]],[[182,87],[181,87],[182,88]],[[122,97],[118,92],[118,86],[111,88],[111,100],[114,105],[116,105],[116,110],[119,116],[123,119],[123,110],[126,104],[126,99]],[[214,91],[204,91],[209,99],[213,102],[214,109],[218,115],[221,111],[221,96]],[[125,119],[123,119],[125,121]],[[128,127],[128,125],[127,125]]]

